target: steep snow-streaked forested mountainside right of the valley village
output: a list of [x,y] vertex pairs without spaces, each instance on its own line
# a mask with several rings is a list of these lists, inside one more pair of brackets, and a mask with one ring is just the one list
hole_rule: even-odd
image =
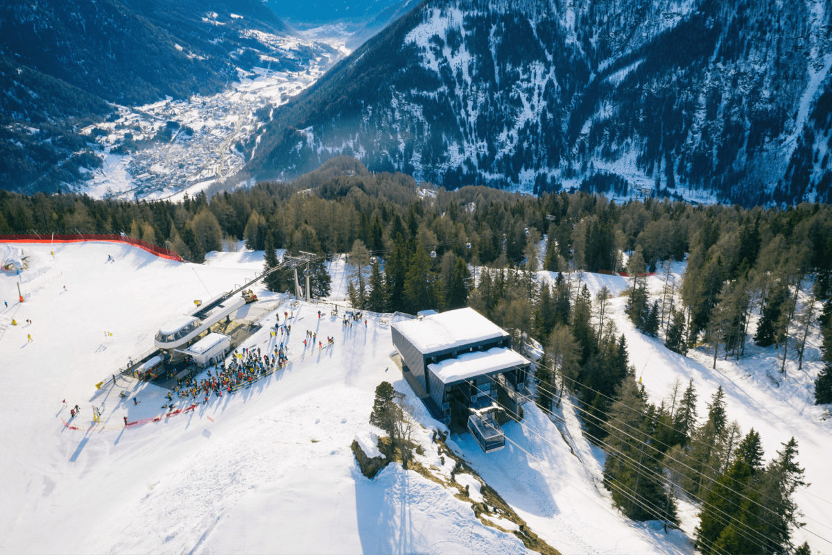
[[448,188],[825,201],[830,15],[824,0],[428,0],[275,111],[250,167],[294,176],[344,153]]

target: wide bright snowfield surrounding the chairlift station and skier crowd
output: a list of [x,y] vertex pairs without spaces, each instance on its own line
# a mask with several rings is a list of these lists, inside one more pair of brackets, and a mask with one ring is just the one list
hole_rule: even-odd
[[[54,259],[49,245],[26,249],[62,280],[20,305],[16,278],[0,276],[10,302],[3,314],[21,324],[0,340],[13,392],[0,409],[0,503],[14,508],[0,517],[3,553],[525,551],[513,534],[479,523],[453,488],[397,463],[372,481],[360,473],[349,445],[369,429],[375,386],[387,379],[407,390],[378,319],[344,331],[300,305],[288,368],[190,414],[125,429],[124,416],[164,414],[164,391],[128,379],[101,391],[94,384],[194,298],[252,275],[262,253],[216,253],[202,266],[127,245],[57,245]],[[334,347],[305,351],[305,330],[333,335]],[[244,345],[274,342],[264,328]],[[102,403],[102,425],[90,428],[92,404]],[[79,430],[63,424],[74,404]]]

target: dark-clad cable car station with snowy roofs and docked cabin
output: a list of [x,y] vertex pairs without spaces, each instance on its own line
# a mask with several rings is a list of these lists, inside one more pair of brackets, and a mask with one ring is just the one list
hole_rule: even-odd
[[499,422],[520,419],[531,362],[511,336],[476,310],[423,315],[392,326],[405,379],[434,419],[468,429],[486,453],[505,446]]

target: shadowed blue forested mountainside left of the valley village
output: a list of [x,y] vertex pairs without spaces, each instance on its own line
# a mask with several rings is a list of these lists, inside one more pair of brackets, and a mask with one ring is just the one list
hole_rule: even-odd
[[0,3],[0,187],[55,191],[101,161],[78,131],[113,104],[219,92],[237,68],[300,71],[291,30],[255,0]]

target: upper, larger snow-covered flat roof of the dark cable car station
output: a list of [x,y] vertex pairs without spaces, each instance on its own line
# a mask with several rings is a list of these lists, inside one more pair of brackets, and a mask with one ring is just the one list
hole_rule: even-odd
[[448,310],[393,326],[422,354],[455,349],[508,333],[472,308]]

